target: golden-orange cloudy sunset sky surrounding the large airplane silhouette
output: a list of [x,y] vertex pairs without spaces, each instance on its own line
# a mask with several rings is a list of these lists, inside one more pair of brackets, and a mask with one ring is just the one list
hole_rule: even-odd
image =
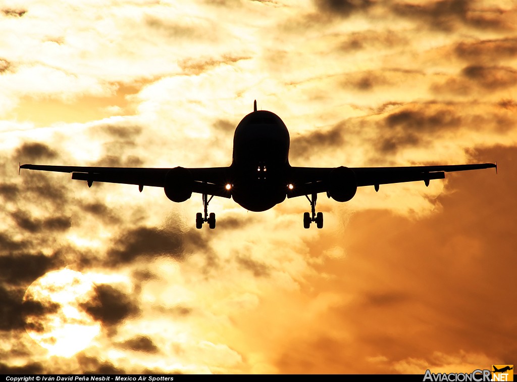
[[[0,372],[517,363],[513,1],[0,3]],[[293,166],[498,163],[262,213],[19,163],[218,167],[253,109]],[[314,226],[314,225],[313,225]]]

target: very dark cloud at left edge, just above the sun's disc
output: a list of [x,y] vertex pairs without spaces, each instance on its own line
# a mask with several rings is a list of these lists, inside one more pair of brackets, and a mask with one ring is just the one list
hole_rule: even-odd
[[0,256],[0,280],[13,285],[32,283],[36,278],[57,268],[60,263],[56,256],[10,253]]

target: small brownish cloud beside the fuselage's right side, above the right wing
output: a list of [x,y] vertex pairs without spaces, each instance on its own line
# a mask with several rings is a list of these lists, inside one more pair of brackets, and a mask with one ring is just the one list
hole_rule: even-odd
[[315,130],[306,135],[298,135],[291,138],[290,157],[309,158],[320,150],[342,146],[345,143],[342,134],[343,126],[338,124],[330,130]]

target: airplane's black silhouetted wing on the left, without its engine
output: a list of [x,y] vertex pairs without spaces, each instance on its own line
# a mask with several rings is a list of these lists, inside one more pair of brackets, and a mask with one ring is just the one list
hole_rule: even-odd
[[[142,190],[144,186],[165,187],[167,174],[171,168],[138,167],[82,167],[21,165],[20,169],[72,173],[72,179],[82,180],[92,186],[93,182],[135,184]],[[229,176],[229,167],[188,168],[192,174],[192,191],[229,198],[224,185]]]

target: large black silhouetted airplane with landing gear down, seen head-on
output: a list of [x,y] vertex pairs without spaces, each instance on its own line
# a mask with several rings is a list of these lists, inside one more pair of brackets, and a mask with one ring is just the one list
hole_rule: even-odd
[[20,169],[72,173],[72,179],[94,182],[123,183],[163,187],[174,202],[184,202],[198,193],[203,196],[204,213],[196,214],[196,228],[208,223],[216,227],[215,213],[208,214],[208,203],[214,196],[233,198],[249,211],[266,211],[285,198],[305,196],[311,212],[303,213],[303,227],[316,223],[323,228],[323,213],[315,211],[318,194],[346,202],[354,197],[357,187],[402,182],[444,179],[445,172],[495,168],[497,164],[467,164],[411,167],[294,167],[289,164],[290,137],[280,117],[266,110],[246,115],[237,125],[233,139],[233,160],[228,167],[210,168],[128,168],[20,165]]

